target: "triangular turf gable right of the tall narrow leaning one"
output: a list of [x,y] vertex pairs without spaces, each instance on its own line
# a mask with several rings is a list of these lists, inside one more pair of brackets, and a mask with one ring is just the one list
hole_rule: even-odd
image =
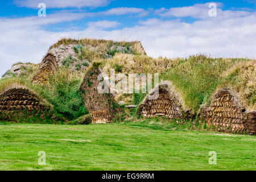
[[[163,116],[170,119],[188,118],[189,111],[185,111],[177,98],[176,94],[172,92],[169,84],[159,84],[159,97],[155,100],[149,100],[146,96],[138,107],[138,114],[147,118],[156,116]],[[150,94],[154,94],[154,89]]]

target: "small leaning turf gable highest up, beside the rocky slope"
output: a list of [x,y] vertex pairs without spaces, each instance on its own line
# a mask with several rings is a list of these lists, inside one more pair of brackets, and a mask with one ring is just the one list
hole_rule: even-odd
[[57,63],[55,56],[53,56],[51,53],[48,53],[40,64],[40,67],[38,68],[35,76],[32,78],[32,82],[35,84],[46,84],[48,82],[49,76],[54,74],[56,69]]

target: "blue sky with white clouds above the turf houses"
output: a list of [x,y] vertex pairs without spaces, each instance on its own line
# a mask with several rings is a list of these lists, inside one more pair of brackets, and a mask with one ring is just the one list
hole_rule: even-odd
[[40,63],[61,38],[139,40],[152,57],[256,59],[255,10],[256,0],[1,0],[0,75]]

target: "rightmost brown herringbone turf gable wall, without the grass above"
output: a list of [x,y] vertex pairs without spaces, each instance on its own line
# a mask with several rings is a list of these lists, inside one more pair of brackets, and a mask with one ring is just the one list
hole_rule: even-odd
[[200,114],[207,125],[218,131],[255,134],[255,111],[247,113],[230,89],[218,90],[210,106],[203,106]]

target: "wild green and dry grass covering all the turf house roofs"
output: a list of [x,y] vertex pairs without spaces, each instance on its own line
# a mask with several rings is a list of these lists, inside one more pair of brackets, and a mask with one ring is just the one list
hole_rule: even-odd
[[[9,78],[0,80],[0,87],[2,85],[5,89],[7,86],[20,84],[34,90],[40,98],[53,106],[53,113],[57,117],[68,121],[88,114],[79,93],[79,86],[86,68],[92,64],[98,64],[97,67],[108,76],[110,69],[126,76],[129,73],[159,73],[159,81],[172,83],[184,109],[189,110],[192,115],[197,114],[203,104],[209,104],[210,96],[221,88],[232,88],[240,94],[242,104],[247,110],[255,110],[255,60],[213,59],[204,55],[190,56],[187,59],[154,59],[146,55],[140,42],[102,39],[61,39],[49,48],[49,52],[56,58],[57,68],[49,76],[46,85],[31,83],[39,67],[32,65],[25,66],[25,72],[21,68],[22,72],[19,74],[8,74]],[[117,82],[118,80],[115,83]],[[145,96],[142,93],[116,93],[115,100],[124,101],[127,105],[139,105]]]

